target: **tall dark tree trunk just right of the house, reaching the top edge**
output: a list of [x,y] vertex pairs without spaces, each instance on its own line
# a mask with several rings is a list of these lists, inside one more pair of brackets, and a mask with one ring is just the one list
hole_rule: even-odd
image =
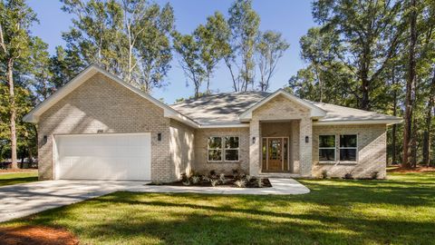
[[410,15],[410,46],[409,46],[409,60],[408,60],[408,77],[406,80],[406,94],[405,94],[405,125],[403,129],[403,162],[402,167],[411,168],[411,130],[412,130],[412,90],[415,83],[415,45],[417,43],[417,10],[416,0],[411,0],[411,15]]

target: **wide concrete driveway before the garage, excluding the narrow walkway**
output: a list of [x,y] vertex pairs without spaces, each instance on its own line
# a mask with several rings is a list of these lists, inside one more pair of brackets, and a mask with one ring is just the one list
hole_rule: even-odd
[[36,181],[0,187],[0,222],[24,217],[113,191],[128,191],[145,181]]

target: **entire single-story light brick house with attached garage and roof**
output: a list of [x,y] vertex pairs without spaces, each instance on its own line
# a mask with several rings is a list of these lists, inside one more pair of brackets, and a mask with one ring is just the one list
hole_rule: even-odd
[[39,177],[174,181],[187,171],[385,177],[386,128],[401,118],[275,93],[167,105],[95,65],[24,117]]

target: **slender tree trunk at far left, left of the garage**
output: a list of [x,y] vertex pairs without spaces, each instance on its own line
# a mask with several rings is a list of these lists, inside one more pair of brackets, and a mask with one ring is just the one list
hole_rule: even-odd
[[10,118],[10,128],[11,128],[11,158],[12,158],[12,169],[18,169],[17,159],[16,159],[16,128],[15,128],[15,118],[16,118],[16,108],[15,108],[15,94],[14,94],[14,59],[9,59],[7,62],[7,80],[9,83],[9,105],[11,108],[11,118]]

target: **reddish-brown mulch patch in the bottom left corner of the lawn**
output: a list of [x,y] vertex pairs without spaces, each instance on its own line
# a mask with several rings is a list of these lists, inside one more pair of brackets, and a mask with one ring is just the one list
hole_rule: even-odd
[[79,240],[69,231],[44,226],[0,228],[0,244],[75,245]]

